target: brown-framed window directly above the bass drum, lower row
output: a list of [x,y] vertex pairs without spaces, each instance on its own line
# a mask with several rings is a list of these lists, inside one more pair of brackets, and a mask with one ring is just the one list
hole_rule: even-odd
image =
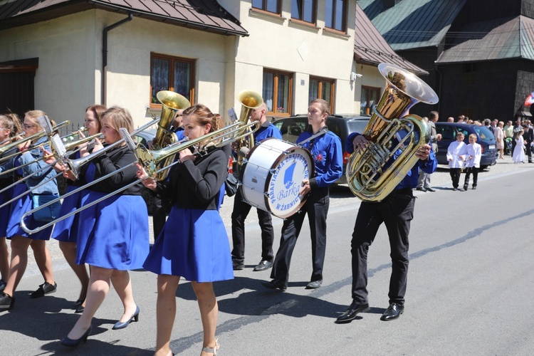
[[291,90],[293,75],[276,70],[263,70],[263,100],[267,104],[267,112],[278,116],[289,116],[291,113]]

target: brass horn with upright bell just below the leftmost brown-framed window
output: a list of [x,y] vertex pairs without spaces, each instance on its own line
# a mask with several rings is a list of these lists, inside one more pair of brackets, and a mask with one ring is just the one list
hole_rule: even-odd
[[[164,147],[172,145],[178,142],[178,138],[174,132],[172,132],[172,122],[176,117],[176,112],[181,109],[189,108],[191,103],[183,95],[174,93],[169,90],[161,90],[156,94],[157,100],[162,103],[162,113],[159,115],[160,120],[157,125],[156,136],[152,140],[152,148],[154,150],[161,150]],[[173,157],[169,157],[164,165],[172,163]],[[162,171],[158,174],[157,180],[164,180],[167,178],[168,170]]]

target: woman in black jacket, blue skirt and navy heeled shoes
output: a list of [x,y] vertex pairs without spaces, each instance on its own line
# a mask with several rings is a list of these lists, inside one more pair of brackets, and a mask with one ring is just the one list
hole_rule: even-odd
[[[116,106],[106,110],[102,117],[106,144],[122,139],[120,127],[133,131],[130,112]],[[93,153],[104,147],[100,140],[95,141]],[[93,182],[135,161],[133,152],[126,145],[119,145],[93,158],[85,170],[84,179]],[[137,167],[132,164],[130,168],[91,185],[81,204],[90,204],[134,182],[136,172]],[[149,250],[148,213],[141,189],[142,184],[134,185],[78,213],[76,263],[88,263],[91,273],[85,309],[68,336],[61,340],[63,345],[77,346],[85,342],[92,330],[93,316],[110,290],[111,279],[124,305],[124,313],[113,329],[126,328],[132,320],[139,319],[140,309],[133,298],[128,271],[142,268]]]

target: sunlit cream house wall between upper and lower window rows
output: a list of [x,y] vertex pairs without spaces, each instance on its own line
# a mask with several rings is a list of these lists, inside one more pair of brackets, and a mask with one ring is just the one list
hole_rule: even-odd
[[[234,58],[234,93],[227,97],[227,106],[239,108],[236,100],[241,90],[263,88],[263,68],[293,73],[292,114],[308,110],[310,75],[335,80],[335,112],[358,112],[355,85],[350,82],[354,57],[355,1],[348,1],[346,36],[328,33],[324,28],[325,1],[318,1],[317,27],[290,21],[291,1],[282,1],[282,16],[269,16],[251,11],[251,1],[219,0],[249,33],[236,38]],[[303,84],[301,82],[303,81]],[[359,102],[359,97],[357,101]]]

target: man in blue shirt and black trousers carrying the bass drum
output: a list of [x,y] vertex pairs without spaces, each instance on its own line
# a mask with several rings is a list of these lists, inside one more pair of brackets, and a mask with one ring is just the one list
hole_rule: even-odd
[[[308,108],[308,122],[311,131],[303,132],[298,142],[318,133],[326,126],[326,117],[330,113],[330,105],[323,99],[312,100]],[[319,288],[323,283],[323,264],[326,251],[326,216],[330,204],[328,187],[341,177],[342,148],[341,140],[333,132],[326,131],[324,135],[315,137],[304,144],[310,150],[315,163],[315,177],[304,179],[300,196],[310,194],[298,213],[284,220],[280,247],[274,259],[270,282],[262,282],[269,289],[286,290],[288,288],[289,266],[291,255],[300,234],[304,217],[308,213],[310,221],[310,237],[312,243],[313,272],[307,289]]]

